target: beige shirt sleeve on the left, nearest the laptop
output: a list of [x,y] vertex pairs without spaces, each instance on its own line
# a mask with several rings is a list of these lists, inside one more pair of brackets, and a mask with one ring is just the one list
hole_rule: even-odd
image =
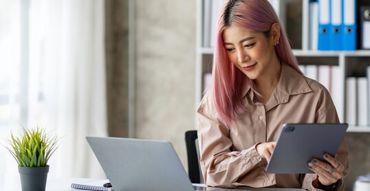
[[200,164],[204,181],[207,186],[232,188],[237,186],[235,183],[239,178],[248,176],[251,169],[263,170],[257,164],[265,160],[257,153],[256,145],[246,150],[231,150],[229,129],[217,117],[209,97],[205,95],[197,111]]

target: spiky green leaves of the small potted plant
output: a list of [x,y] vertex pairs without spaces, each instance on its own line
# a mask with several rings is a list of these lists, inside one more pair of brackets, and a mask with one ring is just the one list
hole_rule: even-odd
[[14,137],[10,133],[11,139],[8,139],[10,147],[6,146],[19,166],[41,167],[46,166],[50,156],[55,152],[59,145],[59,139],[55,136],[50,137],[44,129],[36,128],[26,129],[23,127],[21,138]]

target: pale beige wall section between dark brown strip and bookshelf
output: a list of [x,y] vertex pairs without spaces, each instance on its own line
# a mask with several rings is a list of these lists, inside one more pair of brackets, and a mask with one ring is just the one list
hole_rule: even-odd
[[137,0],[136,136],[173,143],[186,166],[195,124],[196,1]]

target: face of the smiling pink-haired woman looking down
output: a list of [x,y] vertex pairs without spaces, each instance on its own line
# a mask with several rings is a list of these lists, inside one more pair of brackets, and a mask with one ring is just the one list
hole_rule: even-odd
[[272,62],[276,62],[273,37],[232,25],[224,30],[223,38],[228,58],[251,80],[273,71]]

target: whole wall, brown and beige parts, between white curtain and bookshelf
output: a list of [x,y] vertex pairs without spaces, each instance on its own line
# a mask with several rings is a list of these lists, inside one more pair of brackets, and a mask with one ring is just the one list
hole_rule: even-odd
[[[135,1],[135,136],[172,142],[185,167],[184,133],[195,128],[195,5]],[[109,135],[127,137],[129,1],[105,1],[105,11]]]

